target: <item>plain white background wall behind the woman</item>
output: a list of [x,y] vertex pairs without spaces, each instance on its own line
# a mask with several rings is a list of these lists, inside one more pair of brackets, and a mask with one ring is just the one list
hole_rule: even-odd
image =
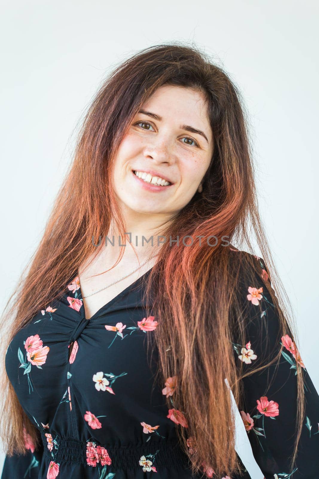
[[[248,106],[260,210],[319,390],[318,4],[30,0],[1,11],[1,306],[41,238],[71,133],[108,71],[146,46],[195,42]],[[263,479],[240,434],[243,462]]]

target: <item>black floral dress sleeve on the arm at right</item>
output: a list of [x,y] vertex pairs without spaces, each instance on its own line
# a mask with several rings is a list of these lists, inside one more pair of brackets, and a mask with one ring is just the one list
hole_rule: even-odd
[[[243,331],[245,341],[234,337],[235,361],[247,374],[250,368],[268,364],[284,345],[279,363],[243,377],[243,401],[238,405],[253,456],[265,479],[318,479],[319,478],[319,395],[294,345],[286,323],[286,334],[280,330],[278,309],[265,286],[268,271],[262,258],[261,274],[252,280],[240,275],[238,286],[244,305]],[[275,302],[275,301],[274,301]],[[237,339],[237,341],[236,341]],[[298,442],[295,467],[291,458],[297,438],[297,362],[304,378],[305,414]]]

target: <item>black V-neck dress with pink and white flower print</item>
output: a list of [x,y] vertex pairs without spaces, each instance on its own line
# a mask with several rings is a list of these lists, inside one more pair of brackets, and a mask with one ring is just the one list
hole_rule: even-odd
[[[263,259],[255,258],[267,275]],[[6,456],[1,479],[194,477],[177,444],[176,428],[187,428],[187,418],[174,408],[176,376],[152,390],[155,363],[150,368],[145,340],[159,324],[144,314],[142,279],[147,274],[90,319],[85,318],[78,277],[73,278],[62,297],[15,335],[6,353],[7,374],[42,442],[35,450],[24,433],[27,453]],[[253,456],[266,479],[318,479],[318,393],[290,336],[274,343],[278,317],[260,277],[247,284],[242,275],[238,287],[247,314],[247,342],[234,338],[232,344],[238,364],[248,370],[271,359],[281,342],[285,346],[277,371],[271,365],[242,380],[240,413]],[[306,412],[297,467],[289,471],[296,437],[297,362],[305,378]],[[211,469],[205,473],[217,478]],[[249,478],[244,471],[240,478],[226,479]]]

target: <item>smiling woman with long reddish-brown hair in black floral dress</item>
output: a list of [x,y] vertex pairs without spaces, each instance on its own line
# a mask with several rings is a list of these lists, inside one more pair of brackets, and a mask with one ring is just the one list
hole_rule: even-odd
[[249,478],[229,388],[264,477],[317,477],[319,396],[275,277],[231,80],[183,45],[124,62],[2,322],[2,479]]

